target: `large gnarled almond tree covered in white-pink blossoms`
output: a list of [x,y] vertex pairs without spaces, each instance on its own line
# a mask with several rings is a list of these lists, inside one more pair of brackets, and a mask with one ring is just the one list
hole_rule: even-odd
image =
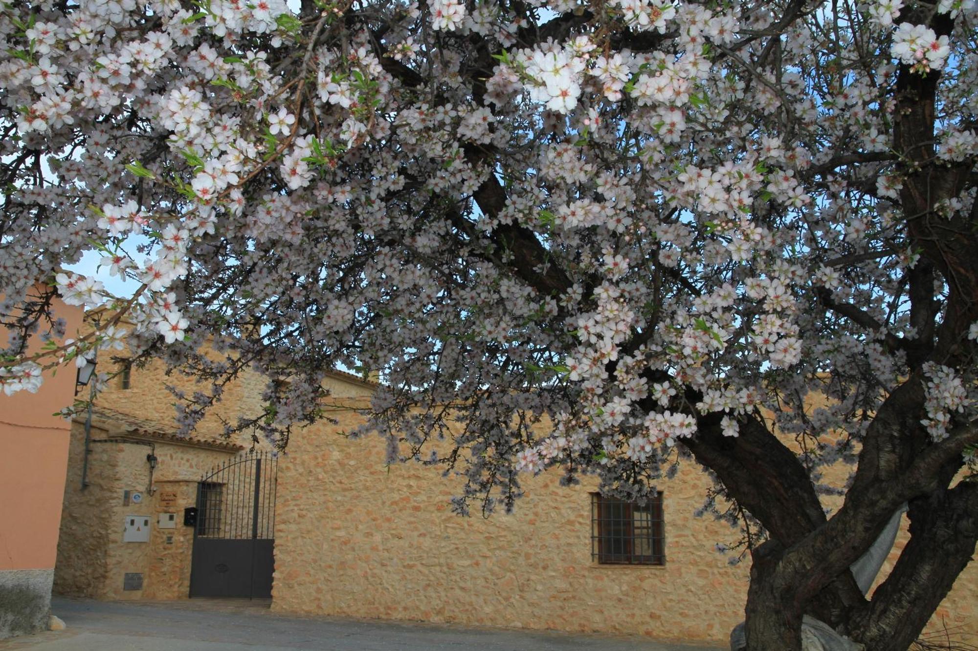
[[[125,345],[200,377],[174,389],[190,431],[258,369],[266,406],[228,431],[285,446],[327,369],[379,369],[357,433],[455,468],[459,512],[548,467],[644,499],[698,462],[751,554],[749,649],[800,648],[805,614],[907,648],[978,538],[976,18],[4,3],[0,384]],[[93,250],[135,290],[81,273]],[[112,316],[65,332],[55,292]],[[849,566],[903,502],[867,599]]]

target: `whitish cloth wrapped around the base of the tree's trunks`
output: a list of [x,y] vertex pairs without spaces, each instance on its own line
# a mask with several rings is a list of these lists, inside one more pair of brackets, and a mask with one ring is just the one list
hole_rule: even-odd
[[[883,561],[893,548],[893,543],[897,540],[897,532],[900,531],[900,518],[906,511],[906,503],[894,511],[875,542],[866,553],[849,566],[856,579],[856,585],[863,590],[863,594],[869,591],[876,575],[879,574],[879,569],[883,567]],[[731,651],[741,651],[746,647],[747,637],[744,633],[744,623],[741,622],[731,631]],[[808,615],[802,618],[801,648],[802,651],[864,651],[865,649],[862,644],[840,635],[824,622]]]

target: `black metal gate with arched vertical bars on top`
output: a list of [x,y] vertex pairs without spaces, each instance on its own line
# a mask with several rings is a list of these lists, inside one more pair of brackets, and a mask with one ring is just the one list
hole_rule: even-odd
[[272,596],[278,458],[248,452],[200,480],[192,597]]

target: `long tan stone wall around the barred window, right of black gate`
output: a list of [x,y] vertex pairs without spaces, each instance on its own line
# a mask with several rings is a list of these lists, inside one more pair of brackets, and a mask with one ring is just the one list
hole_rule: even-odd
[[[280,462],[274,610],[718,643],[743,619],[750,561],[730,566],[714,545],[736,532],[693,517],[708,486],[694,463],[660,486],[665,565],[600,565],[591,547],[594,485],[560,487],[556,473],[544,473],[525,483],[513,515],[461,518],[448,506],[461,479],[416,464],[387,467],[380,439],[337,434],[356,415],[330,415],[338,424],[293,437]],[[972,566],[929,630],[942,617],[978,629],[976,611]]]

